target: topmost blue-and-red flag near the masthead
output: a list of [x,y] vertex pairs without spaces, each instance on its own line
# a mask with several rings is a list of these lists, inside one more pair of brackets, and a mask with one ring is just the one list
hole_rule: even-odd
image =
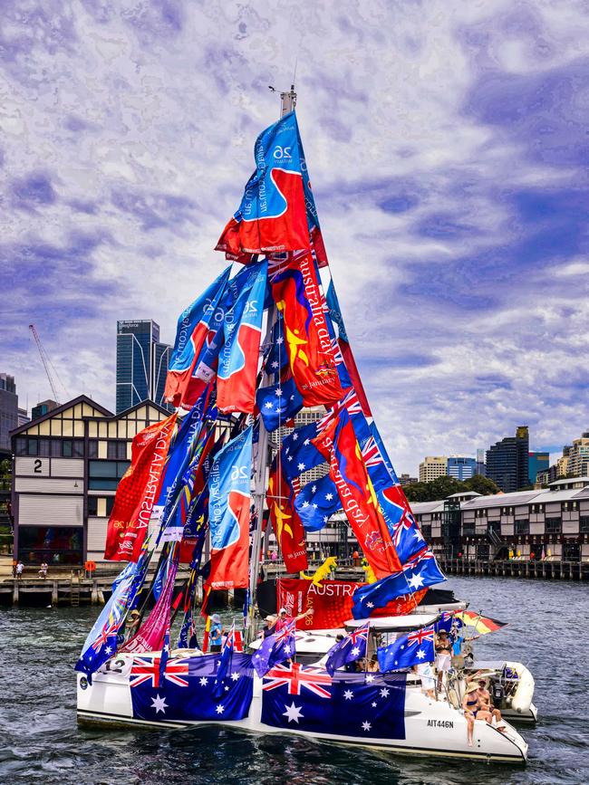
[[256,172],[217,243],[229,258],[309,247],[296,115],[256,139]]

